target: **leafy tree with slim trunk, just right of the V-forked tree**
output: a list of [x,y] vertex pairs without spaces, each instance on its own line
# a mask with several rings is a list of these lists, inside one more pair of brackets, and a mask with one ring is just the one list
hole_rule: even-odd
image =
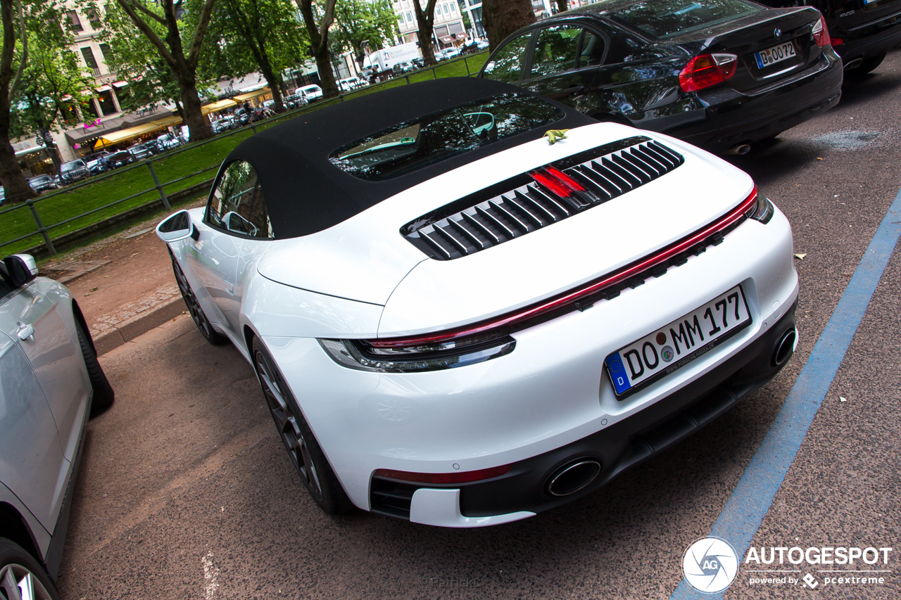
[[309,45],[296,9],[286,0],[220,0],[208,35],[220,75],[241,77],[259,68],[272,90],[276,112],[282,102],[282,70],[305,55]]

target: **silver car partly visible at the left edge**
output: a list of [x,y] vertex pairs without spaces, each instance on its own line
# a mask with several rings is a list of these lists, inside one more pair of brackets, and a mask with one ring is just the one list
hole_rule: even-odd
[[0,598],[59,598],[87,419],[113,404],[85,319],[31,256],[0,261]]

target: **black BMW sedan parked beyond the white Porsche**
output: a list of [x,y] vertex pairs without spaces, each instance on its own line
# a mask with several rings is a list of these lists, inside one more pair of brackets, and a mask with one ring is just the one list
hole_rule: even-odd
[[733,153],[842,94],[842,60],[817,10],[747,0],[587,5],[515,32],[479,77]]

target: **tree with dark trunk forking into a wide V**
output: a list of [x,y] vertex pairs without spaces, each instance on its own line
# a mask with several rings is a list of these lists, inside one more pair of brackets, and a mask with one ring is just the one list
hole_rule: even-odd
[[[116,0],[136,32],[147,38],[165,61],[178,85],[182,118],[191,140],[213,137],[201,111],[197,90],[197,64],[215,0]],[[128,34],[122,32],[122,34]],[[187,44],[182,40],[185,36]]]

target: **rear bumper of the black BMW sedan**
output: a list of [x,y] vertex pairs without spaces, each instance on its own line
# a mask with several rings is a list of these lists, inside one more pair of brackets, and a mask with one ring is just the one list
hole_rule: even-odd
[[754,95],[717,86],[698,93],[705,119],[663,133],[725,151],[737,144],[767,140],[837,105],[842,97],[842,61],[832,52],[796,77]]

